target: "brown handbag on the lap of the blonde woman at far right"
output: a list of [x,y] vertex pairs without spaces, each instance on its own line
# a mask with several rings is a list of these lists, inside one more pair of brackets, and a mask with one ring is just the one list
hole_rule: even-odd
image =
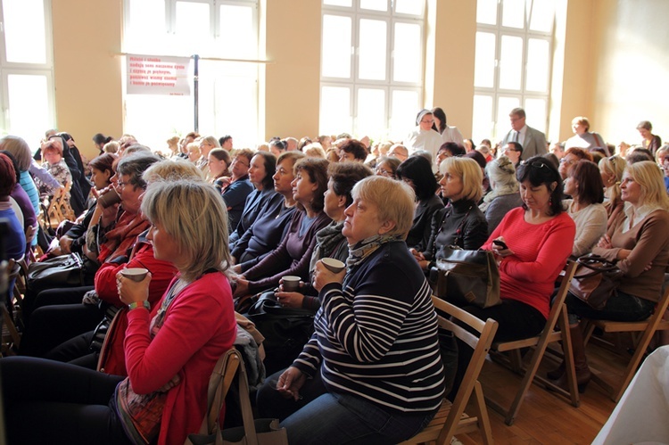
[[623,272],[615,263],[595,255],[583,255],[578,260],[569,292],[588,303],[592,309],[601,310],[620,283]]

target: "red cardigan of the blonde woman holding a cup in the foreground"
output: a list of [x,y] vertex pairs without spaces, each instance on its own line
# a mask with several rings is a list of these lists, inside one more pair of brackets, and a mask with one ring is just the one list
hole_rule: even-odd
[[144,308],[128,312],[126,367],[138,394],[157,391],[179,375],[168,392],[158,443],[182,445],[188,433],[200,430],[211,372],[235,342],[232,290],[222,273],[205,274],[172,301],[152,341],[149,324],[160,306],[151,314]]

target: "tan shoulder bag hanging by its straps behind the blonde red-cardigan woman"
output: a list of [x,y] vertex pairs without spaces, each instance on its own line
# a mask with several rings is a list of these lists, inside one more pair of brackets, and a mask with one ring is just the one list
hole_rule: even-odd
[[[235,365],[236,362],[236,365]],[[236,369],[235,369],[236,368]],[[244,426],[221,431],[220,411],[225,403],[232,378],[237,375],[239,402],[242,407]],[[235,348],[219,358],[214,367],[207,391],[207,412],[202,419],[200,433],[189,434],[185,445],[287,445],[288,435],[279,426],[278,419],[253,420],[249,384],[244,359]]]

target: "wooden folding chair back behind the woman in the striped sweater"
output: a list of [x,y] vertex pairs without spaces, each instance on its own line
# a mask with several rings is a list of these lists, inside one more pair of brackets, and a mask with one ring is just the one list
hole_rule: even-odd
[[[458,421],[465,411],[469,397],[478,381],[478,375],[481,373],[485,356],[488,354],[492,339],[497,332],[497,322],[491,318],[483,321],[465,310],[453,306],[448,301],[443,301],[435,296],[432,297],[432,301],[434,302],[434,308],[437,309],[439,326],[451,331],[460,341],[467,343],[474,350],[465,373],[465,378],[460,383],[458,393],[450,408],[449,416],[442,428],[442,432],[439,434],[437,443],[443,443],[447,437],[452,437],[458,427]],[[447,314],[451,319],[442,316],[440,312]],[[456,324],[456,321],[458,324]],[[467,326],[469,330],[463,326]],[[472,334],[470,330],[475,331],[479,335]]]

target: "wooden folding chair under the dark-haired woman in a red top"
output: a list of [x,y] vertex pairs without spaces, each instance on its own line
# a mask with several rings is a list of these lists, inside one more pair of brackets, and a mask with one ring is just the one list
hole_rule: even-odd
[[[581,403],[576,388],[574,356],[572,354],[572,339],[569,335],[569,320],[567,318],[565,305],[566,294],[569,292],[569,284],[572,281],[575,269],[576,263],[574,261],[569,261],[566,267],[565,276],[562,279],[562,284],[560,284],[560,288],[558,290],[558,295],[556,296],[555,300],[553,301],[553,305],[550,308],[549,317],[546,320],[546,326],[544,326],[539,336],[526,338],[523,340],[516,340],[515,342],[492,343],[492,350],[497,352],[509,352],[509,367],[511,367],[511,369],[517,374],[523,375],[523,380],[521,381],[520,387],[516,392],[516,398],[513,400],[508,409],[503,408],[500,403],[495,400],[491,400],[489,398],[486,398],[485,400],[492,409],[505,417],[504,422],[508,425],[514,423],[514,420],[518,414],[518,410],[520,410],[520,406],[523,403],[525,394],[530,389],[530,384],[533,382],[541,383],[544,386],[549,386],[552,391],[555,391],[558,394],[566,397],[566,399],[568,399],[574,407],[578,407]],[[555,330],[556,325],[559,325],[559,331]],[[541,377],[541,375],[536,375],[537,369],[539,369],[539,365],[541,364],[541,358],[543,358],[544,352],[546,351],[546,348],[550,342],[562,342],[562,349],[565,355],[567,386],[569,391],[565,391],[556,384]],[[523,368],[520,350],[530,347],[533,347],[534,349],[533,355],[529,365],[527,365],[526,368]]]

